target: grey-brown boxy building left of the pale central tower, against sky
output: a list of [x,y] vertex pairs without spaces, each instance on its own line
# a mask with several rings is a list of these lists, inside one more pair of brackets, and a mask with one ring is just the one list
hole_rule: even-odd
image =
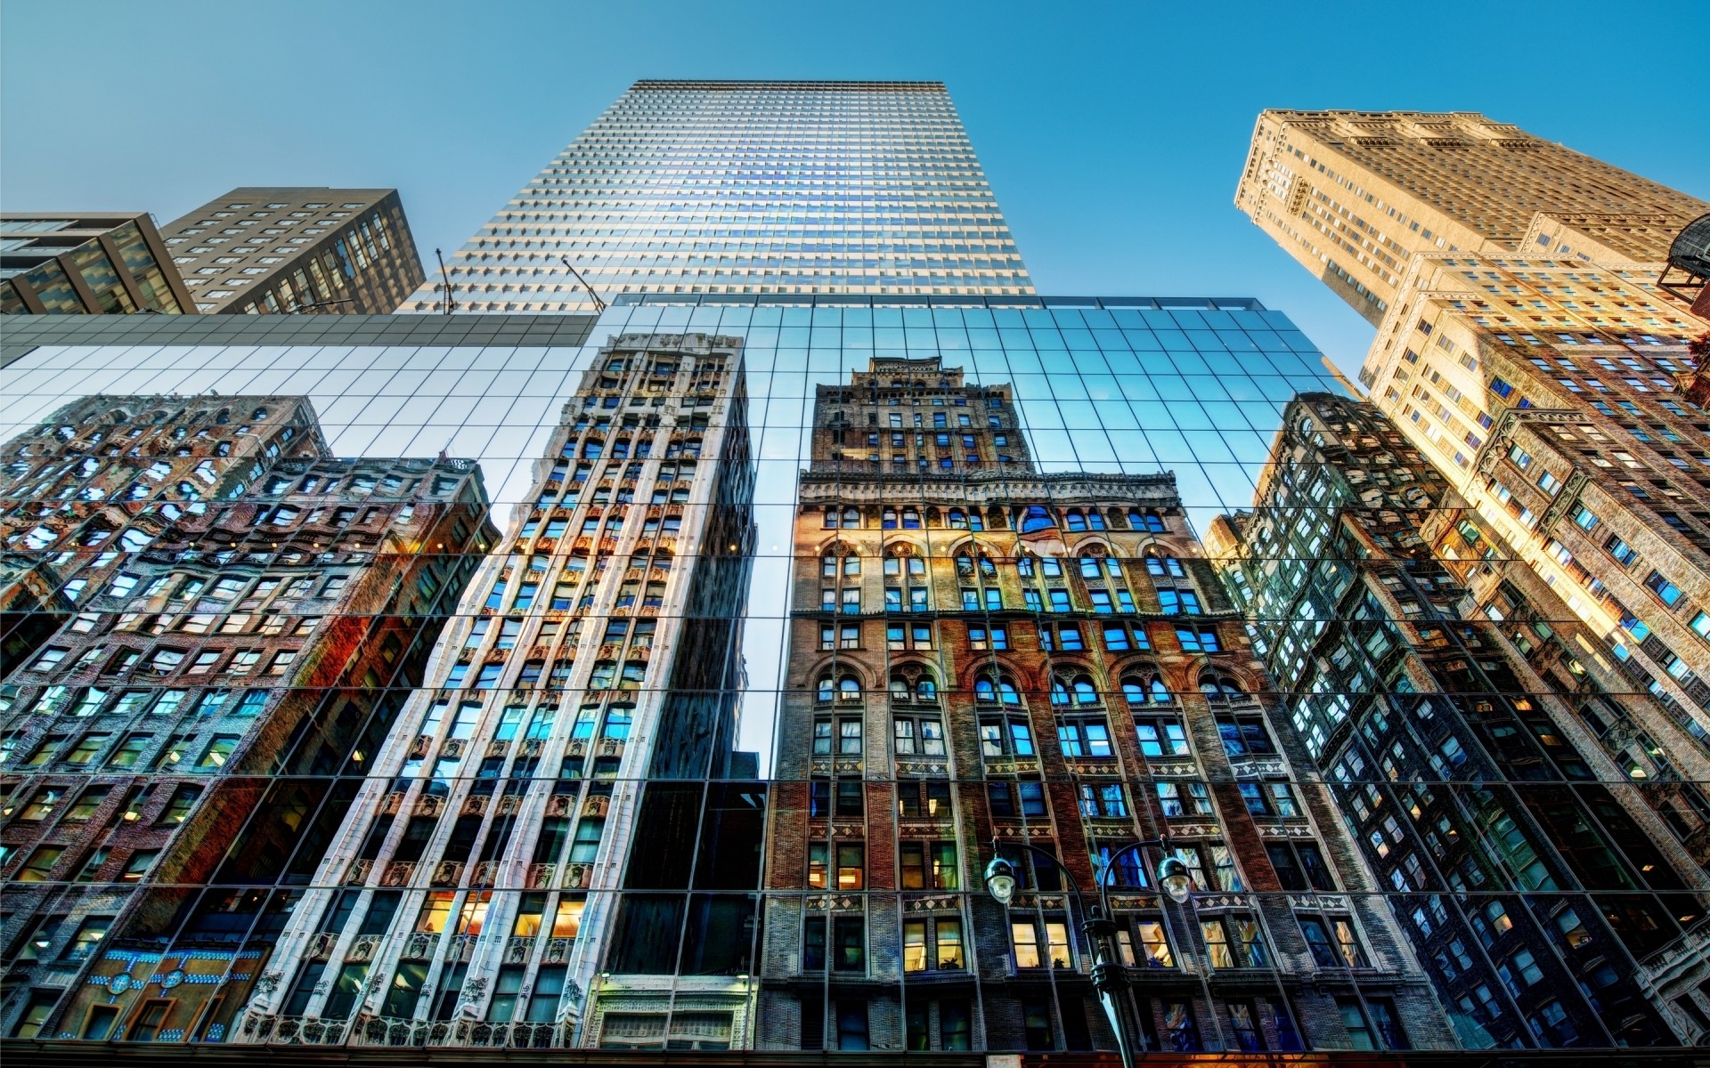
[[385,314],[424,277],[397,190],[241,186],[161,234],[203,313]]

